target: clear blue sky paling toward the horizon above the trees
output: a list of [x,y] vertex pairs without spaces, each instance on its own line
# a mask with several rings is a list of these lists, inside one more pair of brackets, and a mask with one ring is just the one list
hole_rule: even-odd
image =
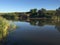
[[60,0],[0,0],[0,12],[26,12],[30,9],[54,10],[60,7]]

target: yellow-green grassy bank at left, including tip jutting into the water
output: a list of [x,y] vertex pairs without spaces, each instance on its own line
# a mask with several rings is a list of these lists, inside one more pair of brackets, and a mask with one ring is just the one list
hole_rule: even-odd
[[0,17],[0,40],[7,36],[8,30],[16,28],[15,24],[10,24],[8,20]]

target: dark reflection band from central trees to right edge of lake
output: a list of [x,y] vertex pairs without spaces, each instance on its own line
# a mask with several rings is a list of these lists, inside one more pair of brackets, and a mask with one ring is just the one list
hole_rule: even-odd
[[60,32],[60,21],[57,20],[30,20],[30,24],[34,26],[55,25],[55,28]]

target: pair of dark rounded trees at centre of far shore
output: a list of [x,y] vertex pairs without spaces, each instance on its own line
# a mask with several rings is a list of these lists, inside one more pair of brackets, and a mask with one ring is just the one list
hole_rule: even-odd
[[51,14],[47,14],[47,10],[42,8],[40,10],[32,9],[30,11],[30,18],[51,18]]

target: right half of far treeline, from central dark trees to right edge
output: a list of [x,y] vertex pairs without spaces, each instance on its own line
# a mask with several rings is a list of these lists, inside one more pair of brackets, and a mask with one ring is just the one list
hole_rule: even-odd
[[60,15],[60,7],[56,10],[46,10],[44,8],[37,10],[30,10],[30,18],[52,18],[53,16]]

